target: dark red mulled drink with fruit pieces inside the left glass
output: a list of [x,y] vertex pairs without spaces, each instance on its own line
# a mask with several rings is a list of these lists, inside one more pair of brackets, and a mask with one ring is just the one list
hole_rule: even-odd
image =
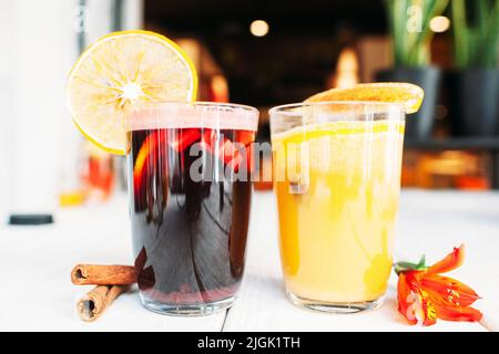
[[[244,271],[252,163],[245,152],[254,132],[164,128],[133,131],[129,138],[133,249],[142,296],[179,305],[232,298]],[[191,156],[194,144],[201,155]],[[193,166],[203,173],[201,180],[193,177]],[[240,180],[227,178],[236,174]]]

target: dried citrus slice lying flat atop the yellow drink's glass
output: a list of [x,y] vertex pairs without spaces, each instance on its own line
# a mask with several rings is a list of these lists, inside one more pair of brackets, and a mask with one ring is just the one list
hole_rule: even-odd
[[320,92],[305,102],[360,101],[386,102],[404,106],[404,111],[415,113],[421,105],[425,92],[421,87],[404,82],[381,82],[358,84],[349,88],[332,88]]

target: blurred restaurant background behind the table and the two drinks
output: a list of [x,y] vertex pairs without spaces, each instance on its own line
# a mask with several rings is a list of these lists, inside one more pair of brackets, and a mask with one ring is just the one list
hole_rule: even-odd
[[258,107],[259,140],[273,105],[363,82],[419,84],[403,186],[499,188],[499,0],[0,0],[1,217],[126,188],[124,158],[85,142],[64,104],[79,53],[126,29],[177,41],[198,100]]

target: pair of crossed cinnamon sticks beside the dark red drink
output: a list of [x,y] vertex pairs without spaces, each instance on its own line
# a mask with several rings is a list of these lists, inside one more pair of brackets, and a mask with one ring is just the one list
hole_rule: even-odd
[[95,285],[77,304],[77,312],[85,322],[95,321],[121,293],[136,283],[132,266],[78,264],[71,271],[75,285]]

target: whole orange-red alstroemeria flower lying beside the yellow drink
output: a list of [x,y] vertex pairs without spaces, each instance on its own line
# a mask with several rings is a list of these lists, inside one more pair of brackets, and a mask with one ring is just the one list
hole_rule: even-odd
[[425,258],[418,264],[399,262],[395,266],[398,273],[398,311],[416,324],[432,325],[437,319],[447,321],[480,321],[481,312],[470,305],[480,299],[468,285],[456,279],[442,277],[462,264],[465,246],[455,248],[446,258],[427,268]]

